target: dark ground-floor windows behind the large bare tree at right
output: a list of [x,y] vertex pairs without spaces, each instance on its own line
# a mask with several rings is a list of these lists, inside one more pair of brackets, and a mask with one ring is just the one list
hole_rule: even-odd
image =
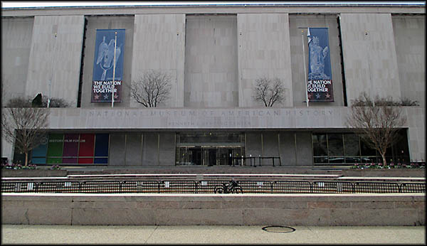
[[[369,148],[359,134],[312,133],[313,159],[315,164],[377,163],[382,158],[375,149]],[[387,149],[386,160],[409,162],[406,130],[399,132],[399,141]]]

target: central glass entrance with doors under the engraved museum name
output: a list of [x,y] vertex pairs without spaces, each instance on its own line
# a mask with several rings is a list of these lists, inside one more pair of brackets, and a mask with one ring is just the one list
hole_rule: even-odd
[[176,165],[238,165],[245,155],[245,135],[228,132],[176,134]]

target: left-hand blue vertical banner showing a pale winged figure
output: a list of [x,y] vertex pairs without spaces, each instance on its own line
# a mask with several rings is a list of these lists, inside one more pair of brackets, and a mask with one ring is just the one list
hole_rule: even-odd
[[[115,43],[117,32],[117,43]],[[116,48],[114,48],[116,46]],[[97,29],[93,61],[92,97],[90,102],[111,102],[114,74],[114,102],[121,102],[125,29]],[[115,55],[115,62],[114,60]]]

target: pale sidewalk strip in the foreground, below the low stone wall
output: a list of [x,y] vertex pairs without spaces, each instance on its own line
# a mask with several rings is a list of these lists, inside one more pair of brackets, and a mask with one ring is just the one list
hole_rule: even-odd
[[404,244],[426,245],[425,226],[1,225],[1,245],[21,244]]

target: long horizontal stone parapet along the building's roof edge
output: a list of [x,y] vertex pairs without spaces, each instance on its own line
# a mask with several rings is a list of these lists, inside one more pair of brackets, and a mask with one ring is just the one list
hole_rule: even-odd
[[251,4],[241,6],[93,6],[91,8],[82,7],[58,7],[58,8],[6,8],[1,10],[2,16],[50,16],[50,15],[75,15],[88,14],[95,16],[102,15],[126,15],[126,14],[218,14],[218,13],[292,13],[292,14],[337,14],[337,13],[392,13],[392,14],[425,14],[426,8],[420,4],[275,4],[274,7],[265,7],[262,4]]

